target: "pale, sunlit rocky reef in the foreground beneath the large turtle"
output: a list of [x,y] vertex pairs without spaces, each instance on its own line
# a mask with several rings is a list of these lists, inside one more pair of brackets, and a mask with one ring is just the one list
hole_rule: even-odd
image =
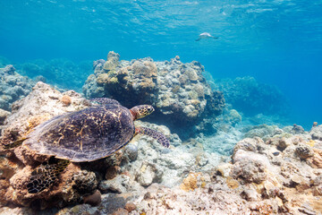
[[[46,111],[59,114],[88,104],[75,92],[68,95],[72,104],[66,107],[60,100],[62,93],[38,82],[28,97],[15,103],[17,108],[4,122],[4,136],[13,128],[23,135],[28,133],[28,125],[37,124],[35,116],[30,115],[36,111],[32,109],[36,100],[45,106],[38,108],[39,116],[48,114]],[[53,109],[48,110],[49,104]],[[239,118],[236,113],[232,115]],[[14,120],[16,117],[36,123],[25,125]],[[231,162],[205,151],[198,139],[182,142],[164,125],[140,121],[136,125],[165,133],[172,142],[171,148],[163,148],[148,136],[135,137],[131,145],[107,159],[70,165],[51,190],[38,195],[26,193],[24,185],[35,166],[32,162],[36,162],[27,158],[42,159],[26,151],[19,153],[19,149],[14,151],[19,162],[14,161],[13,152],[1,157],[0,167],[5,170],[0,175],[1,203],[25,206],[1,210],[35,213],[31,208],[37,206],[45,209],[44,214],[322,212],[322,141],[316,138],[320,125],[301,133],[293,133],[293,126],[253,126],[247,137],[234,145]],[[65,207],[68,204],[73,206]],[[53,206],[62,209],[49,209]]]

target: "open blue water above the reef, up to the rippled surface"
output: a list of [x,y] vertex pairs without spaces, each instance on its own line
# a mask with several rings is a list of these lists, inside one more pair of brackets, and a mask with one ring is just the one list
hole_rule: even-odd
[[[292,123],[322,123],[322,1],[0,1],[0,56],[18,63],[151,56],[197,60],[214,78],[276,85]],[[207,31],[219,39],[200,40]],[[75,74],[77,75],[77,74]],[[71,86],[72,88],[72,86]],[[270,104],[267,104],[270,105]]]

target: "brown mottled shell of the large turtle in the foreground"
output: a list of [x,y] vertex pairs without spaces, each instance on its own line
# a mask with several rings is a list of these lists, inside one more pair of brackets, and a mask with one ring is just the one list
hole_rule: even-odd
[[134,133],[130,110],[107,104],[55,116],[38,125],[23,145],[38,154],[84,162],[122,149]]

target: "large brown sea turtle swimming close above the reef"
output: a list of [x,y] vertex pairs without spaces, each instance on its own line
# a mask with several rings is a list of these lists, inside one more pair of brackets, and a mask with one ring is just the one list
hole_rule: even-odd
[[55,157],[32,171],[27,185],[29,193],[39,193],[52,185],[70,162],[106,158],[122,149],[138,133],[147,134],[169,147],[170,142],[163,133],[134,126],[134,120],[154,111],[152,106],[128,109],[114,99],[97,98],[92,101],[99,105],[55,116],[38,125],[25,138],[4,145],[8,150],[22,144],[22,147],[38,154]]

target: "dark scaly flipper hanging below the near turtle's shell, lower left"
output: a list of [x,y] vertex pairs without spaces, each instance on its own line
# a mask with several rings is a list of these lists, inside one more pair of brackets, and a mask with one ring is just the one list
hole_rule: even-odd
[[67,159],[49,159],[32,171],[27,185],[28,193],[39,193],[50,185],[70,163]]

